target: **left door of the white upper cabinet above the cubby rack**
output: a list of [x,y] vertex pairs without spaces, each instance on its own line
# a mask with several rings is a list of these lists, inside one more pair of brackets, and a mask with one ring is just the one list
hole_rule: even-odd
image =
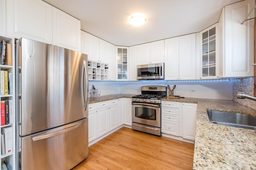
[[88,55],[88,60],[98,61],[99,38],[81,31],[81,52]]

